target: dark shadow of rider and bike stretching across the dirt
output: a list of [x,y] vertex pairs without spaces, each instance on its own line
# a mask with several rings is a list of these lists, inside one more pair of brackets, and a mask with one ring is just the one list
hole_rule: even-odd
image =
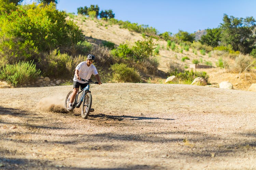
[[113,116],[113,115],[105,115],[105,114],[98,114],[98,115],[89,115],[88,119],[95,120],[95,119],[104,119],[104,120],[116,120],[116,121],[123,121],[123,120],[175,120],[175,119],[166,119],[166,118],[159,118],[159,117],[145,117],[145,116]]

